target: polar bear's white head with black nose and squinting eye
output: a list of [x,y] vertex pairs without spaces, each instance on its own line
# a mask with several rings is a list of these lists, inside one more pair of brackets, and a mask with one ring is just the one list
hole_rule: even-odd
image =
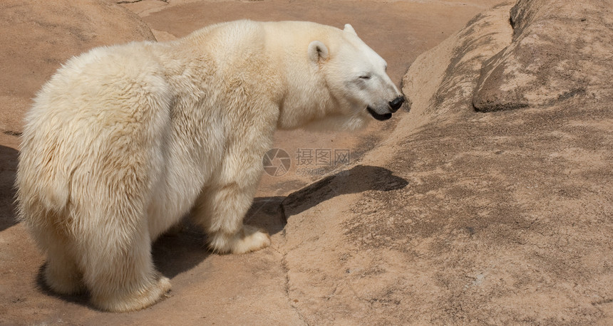
[[329,41],[328,46],[312,41],[308,48],[309,60],[334,99],[326,120],[344,130],[363,127],[373,117],[388,120],[404,97],[387,75],[386,61],[361,41],[351,25],[346,24],[339,37],[341,41]]

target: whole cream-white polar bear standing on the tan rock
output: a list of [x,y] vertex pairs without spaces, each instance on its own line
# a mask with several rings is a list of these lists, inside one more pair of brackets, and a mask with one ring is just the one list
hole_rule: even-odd
[[354,28],[235,21],[168,43],[95,48],[43,86],[26,115],[19,219],[46,253],[43,279],[101,310],[170,289],[150,248],[191,213],[213,251],[247,253],[242,223],[274,130],[386,120],[403,96]]

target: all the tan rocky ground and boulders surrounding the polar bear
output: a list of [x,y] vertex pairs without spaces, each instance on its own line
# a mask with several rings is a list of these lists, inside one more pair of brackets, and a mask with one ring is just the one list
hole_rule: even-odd
[[[0,4],[0,323],[613,323],[607,1],[80,2]],[[411,111],[354,135],[278,132],[292,165],[264,174],[247,216],[273,245],[215,255],[186,223],[153,249],[167,300],[112,314],[49,293],[12,209],[29,98],[87,48],[241,18],[352,23]],[[349,160],[305,160],[318,152]]]

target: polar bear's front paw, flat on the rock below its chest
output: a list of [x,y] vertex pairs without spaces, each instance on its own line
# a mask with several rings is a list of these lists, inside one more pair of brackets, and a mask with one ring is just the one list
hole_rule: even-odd
[[270,236],[253,226],[242,226],[235,234],[217,232],[210,235],[209,246],[217,253],[249,253],[270,246]]

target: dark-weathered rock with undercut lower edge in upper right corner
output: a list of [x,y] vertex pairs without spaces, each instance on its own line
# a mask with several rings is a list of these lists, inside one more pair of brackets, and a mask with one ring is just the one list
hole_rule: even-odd
[[483,65],[473,97],[483,112],[613,93],[613,6],[607,1],[520,0],[510,46]]

